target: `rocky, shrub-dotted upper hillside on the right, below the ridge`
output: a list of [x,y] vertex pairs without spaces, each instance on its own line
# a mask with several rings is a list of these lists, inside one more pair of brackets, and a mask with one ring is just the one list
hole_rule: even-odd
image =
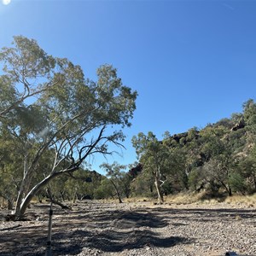
[[244,119],[236,122],[222,119],[201,130],[192,128],[173,134],[161,143],[166,143],[172,150],[181,149],[183,154],[193,159],[193,167],[189,169],[204,166],[207,161],[218,155],[226,154],[236,160],[244,159],[254,146],[249,140]]

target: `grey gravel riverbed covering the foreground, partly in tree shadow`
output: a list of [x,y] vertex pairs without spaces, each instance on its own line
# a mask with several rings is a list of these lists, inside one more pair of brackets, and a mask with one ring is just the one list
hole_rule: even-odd
[[[36,212],[37,215],[33,214]],[[47,205],[28,221],[6,222],[0,211],[0,255],[44,255]],[[54,207],[52,255],[256,256],[256,208],[242,205],[108,204],[84,201]]]

